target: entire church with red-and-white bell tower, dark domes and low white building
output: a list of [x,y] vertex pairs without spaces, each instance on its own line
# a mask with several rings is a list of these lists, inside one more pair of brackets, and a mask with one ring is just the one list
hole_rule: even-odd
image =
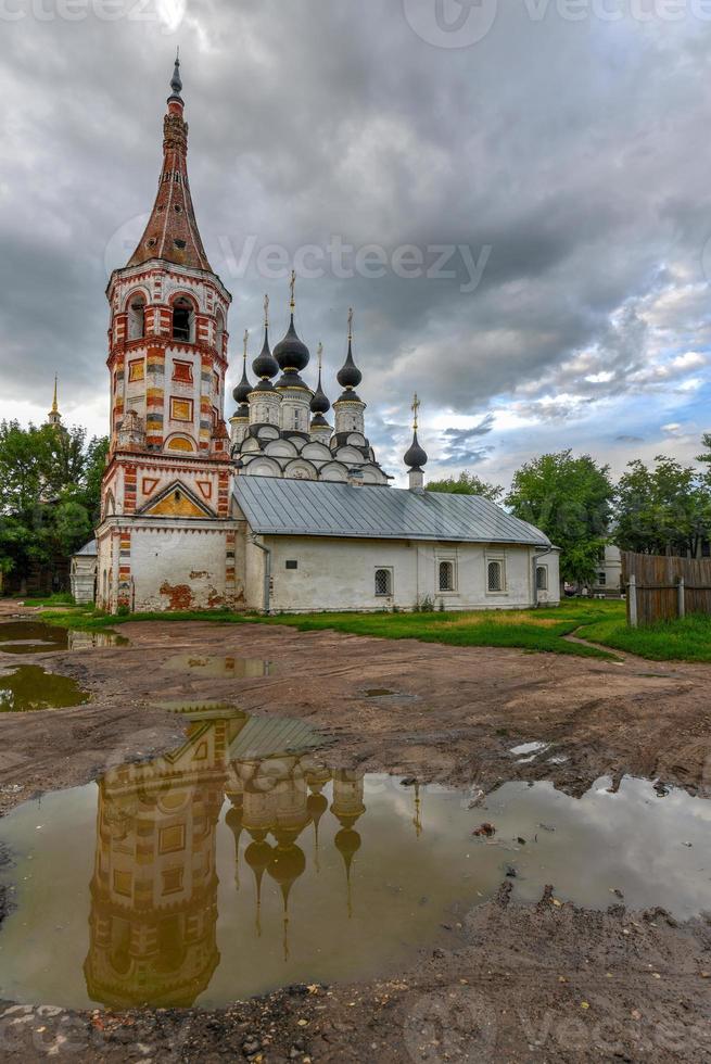
[[543,532],[487,499],[424,490],[417,396],[409,486],[391,486],[367,436],[353,312],[331,404],[320,347],[314,387],[305,379],[312,356],[294,324],[293,274],[274,347],[265,299],[252,378],[245,335],[228,425],[231,295],[195,220],[179,67],[155,203],[106,290],[111,449],[97,605],[269,613],[557,604],[558,552]]

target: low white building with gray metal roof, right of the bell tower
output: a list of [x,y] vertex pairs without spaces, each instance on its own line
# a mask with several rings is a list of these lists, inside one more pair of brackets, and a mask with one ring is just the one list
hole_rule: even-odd
[[475,495],[239,477],[247,609],[516,609],[559,601],[558,552]]

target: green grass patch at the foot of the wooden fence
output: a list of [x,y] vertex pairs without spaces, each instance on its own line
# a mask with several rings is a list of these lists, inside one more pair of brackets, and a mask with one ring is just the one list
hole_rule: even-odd
[[711,661],[711,617],[695,613],[681,621],[627,628],[624,615],[586,622],[580,635],[651,661]]

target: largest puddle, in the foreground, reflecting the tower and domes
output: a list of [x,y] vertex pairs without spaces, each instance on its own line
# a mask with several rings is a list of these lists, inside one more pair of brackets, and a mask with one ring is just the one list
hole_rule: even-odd
[[[593,908],[613,891],[677,917],[711,907],[711,803],[683,791],[625,778],[609,794],[602,780],[573,799],[512,782],[469,810],[460,793],[329,768],[303,722],[181,712],[179,749],[0,821],[17,907],[0,928],[0,998],[217,1008],[372,978],[456,943],[442,924],[509,869],[523,902],[553,883]],[[493,837],[472,837],[482,820]]]

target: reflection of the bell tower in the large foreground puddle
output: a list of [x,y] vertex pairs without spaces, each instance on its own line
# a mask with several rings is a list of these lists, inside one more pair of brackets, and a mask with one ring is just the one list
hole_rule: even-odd
[[110,1008],[188,1008],[219,962],[216,826],[226,722],[193,724],[175,753],[99,785],[89,997]]

